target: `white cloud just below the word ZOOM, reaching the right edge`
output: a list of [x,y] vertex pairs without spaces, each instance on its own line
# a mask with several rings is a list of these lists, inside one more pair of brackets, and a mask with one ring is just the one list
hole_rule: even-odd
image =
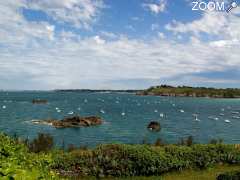
[[215,35],[222,38],[240,39],[240,8],[231,13],[206,11],[200,19],[188,23],[173,21],[165,28],[174,33],[200,33]]

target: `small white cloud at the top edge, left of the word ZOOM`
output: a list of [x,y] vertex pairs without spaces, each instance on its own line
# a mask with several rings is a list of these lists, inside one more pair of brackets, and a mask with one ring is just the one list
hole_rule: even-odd
[[142,6],[150,10],[152,13],[158,14],[160,12],[164,12],[166,10],[167,1],[159,0],[158,3],[143,3]]

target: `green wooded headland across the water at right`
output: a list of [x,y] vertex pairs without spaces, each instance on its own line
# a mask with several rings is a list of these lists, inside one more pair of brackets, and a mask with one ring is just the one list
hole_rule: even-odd
[[176,97],[209,97],[209,98],[240,98],[240,89],[237,88],[206,88],[189,86],[153,86],[138,91],[137,95],[176,96]]

